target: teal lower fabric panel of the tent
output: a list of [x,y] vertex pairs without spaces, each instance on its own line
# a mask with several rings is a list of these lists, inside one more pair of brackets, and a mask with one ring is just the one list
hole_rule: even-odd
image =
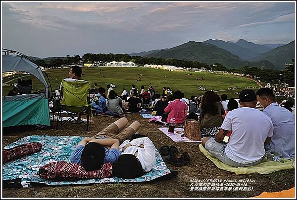
[[2,113],[3,127],[20,125],[50,126],[49,101],[47,98],[32,98],[14,101],[3,100]]

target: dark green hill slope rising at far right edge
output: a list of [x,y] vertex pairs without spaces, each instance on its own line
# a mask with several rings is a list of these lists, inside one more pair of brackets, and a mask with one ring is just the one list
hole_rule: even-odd
[[292,63],[295,58],[295,41],[292,41],[284,46],[275,48],[269,52],[260,54],[251,61],[267,60],[273,63],[276,68],[283,69],[286,63]]

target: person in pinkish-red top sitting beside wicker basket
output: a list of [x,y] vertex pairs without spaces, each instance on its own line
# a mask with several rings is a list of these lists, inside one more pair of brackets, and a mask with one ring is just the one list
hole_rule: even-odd
[[173,93],[173,98],[175,100],[169,103],[168,106],[164,109],[166,113],[169,113],[167,122],[169,123],[171,118],[175,118],[175,124],[182,124],[184,123],[184,119],[188,114],[188,106],[181,101],[181,99],[183,98],[181,91],[176,90]]

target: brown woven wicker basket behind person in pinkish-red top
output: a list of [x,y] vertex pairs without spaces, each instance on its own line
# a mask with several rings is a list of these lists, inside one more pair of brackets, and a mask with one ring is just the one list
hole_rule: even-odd
[[185,135],[195,141],[201,140],[200,123],[195,119],[185,118],[184,120]]

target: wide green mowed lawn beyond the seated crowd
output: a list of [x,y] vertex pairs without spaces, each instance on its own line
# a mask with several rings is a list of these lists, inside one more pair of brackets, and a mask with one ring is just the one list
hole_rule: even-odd
[[[102,71],[100,71],[100,69],[102,69]],[[49,75],[49,81],[53,90],[58,89],[61,80],[68,76],[68,71],[69,68],[46,70]],[[186,98],[190,98],[191,95],[203,95],[205,91],[198,90],[200,85],[205,86],[206,91],[211,89],[215,91],[225,90],[233,86],[259,87],[254,81],[248,80],[246,78],[210,72],[168,71],[143,67],[90,67],[83,68],[83,73],[84,75],[82,75],[82,79],[91,81],[92,88],[94,87],[94,83],[97,83],[99,87],[101,86],[105,89],[107,84],[115,83],[116,87],[113,89],[119,95],[122,93],[122,87],[125,87],[129,92],[132,84],[135,84],[139,91],[142,85],[145,86],[146,90],[148,89],[149,85],[152,85],[157,93],[162,93],[162,88],[164,86],[170,87],[173,91],[181,90],[185,94]],[[189,73],[191,75],[189,75]],[[24,75],[26,74],[20,76]],[[136,79],[139,77],[141,78],[141,81],[136,81]],[[33,89],[44,90],[42,83],[35,77],[26,76],[23,78],[32,78]],[[202,78],[202,80],[196,80],[196,78]],[[7,80],[9,79],[5,78],[2,80],[2,82],[4,83]],[[15,79],[8,84],[13,85],[13,83],[16,82],[17,80]],[[11,88],[12,86],[3,86],[3,95],[6,95]],[[34,92],[34,90],[32,92]],[[230,94],[228,97],[238,97],[238,95],[233,95],[234,91],[226,92]]]

